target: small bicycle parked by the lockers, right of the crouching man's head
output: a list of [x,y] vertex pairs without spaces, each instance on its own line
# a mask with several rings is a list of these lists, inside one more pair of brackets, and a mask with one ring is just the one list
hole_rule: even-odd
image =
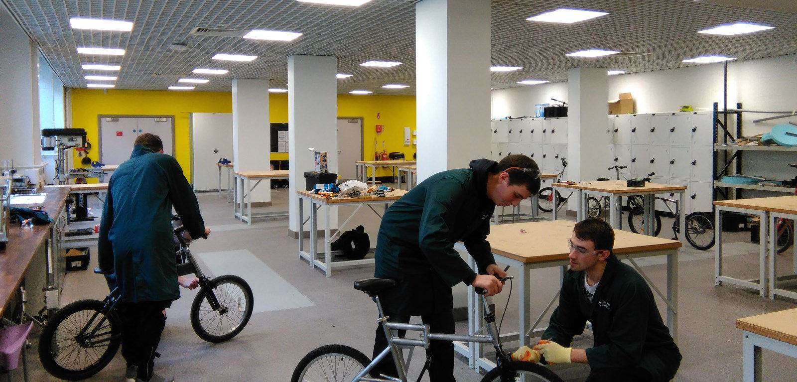
[[[673,215],[673,233],[675,239],[678,238],[681,224],[681,211],[678,209],[678,201],[676,199],[667,199],[656,197],[654,199],[662,200],[664,206],[667,207],[670,214]],[[669,207],[670,204],[675,205],[675,209]],[[658,236],[662,231],[662,211],[654,211],[654,236]],[[628,226],[634,234],[645,233],[645,209],[634,207],[628,214]],[[685,236],[686,241],[698,250],[708,250],[714,246],[714,221],[712,216],[705,212],[695,211],[686,215],[685,219]]]

